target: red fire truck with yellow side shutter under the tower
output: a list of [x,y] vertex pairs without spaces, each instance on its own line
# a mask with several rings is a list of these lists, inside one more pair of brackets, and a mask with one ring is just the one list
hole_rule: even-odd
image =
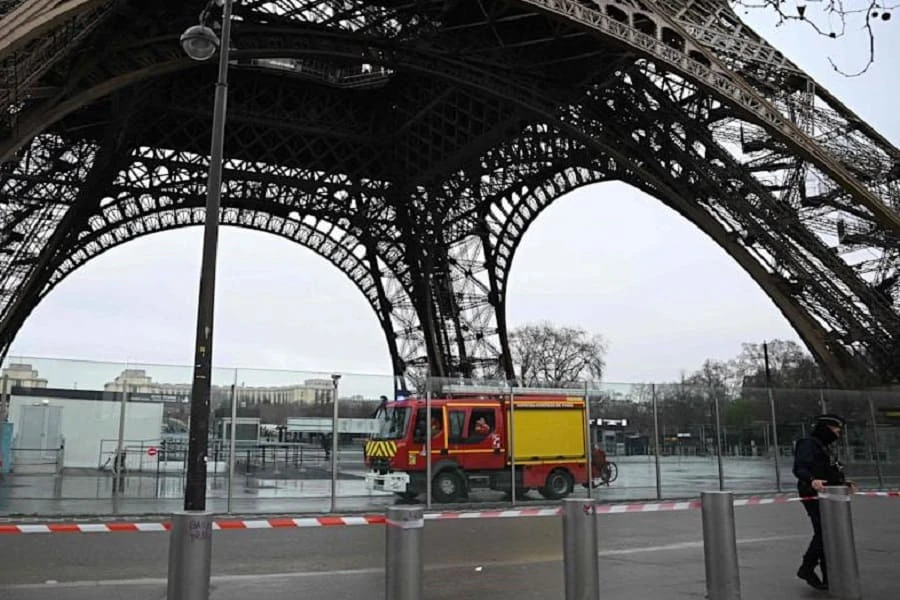
[[369,490],[407,500],[424,493],[429,446],[436,502],[465,500],[475,488],[511,493],[513,468],[517,497],[537,490],[556,500],[589,484],[585,401],[573,390],[445,385],[428,408],[422,397],[379,408],[378,434],[364,447]]

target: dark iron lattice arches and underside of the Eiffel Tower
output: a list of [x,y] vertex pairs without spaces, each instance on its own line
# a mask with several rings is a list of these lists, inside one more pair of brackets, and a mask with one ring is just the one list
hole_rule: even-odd
[[[0,351],[91,258],[204,221],[215,66],[178,44],[203,7],[0,7]],[[900,151],[726,2],[234,12],[218,217],[341,269],[396,375],[512,377],[523,234],[572,189],[618,180],[726,250],[833,384],[898,381]]]

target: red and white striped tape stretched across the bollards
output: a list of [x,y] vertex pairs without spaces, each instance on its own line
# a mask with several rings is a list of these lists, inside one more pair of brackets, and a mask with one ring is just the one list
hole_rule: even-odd
[[[900,492],[857,492],[857,496],[900,498]],[[765,504],[785,504],[800,502],[805,498],[797,496],[772,496],[737,498],[735,506],[761,506]],[[645,512],[670,512],[681,510],[699,510],[699,500],[682,502],[638,502],[631,504],[598,504],[597,514],[622,514]],[[426,513],[426,521],[444,521],[453,519],[502,519],[521,517],[553,517],[560,514],[558,507],[544,508],[511,508],[506,510],[455,511]],[[230,531],[235,529],[298,529],[306,527],[345,527],[351,525],[382,525],[387,521],[385,515],[356,516],[321,516],[275,519],[219,519],[213,523],[213,529]],[[27,533],[138,533],[162,532],[171,528],[169,522],[156,523],[0,523],[2,534]]]

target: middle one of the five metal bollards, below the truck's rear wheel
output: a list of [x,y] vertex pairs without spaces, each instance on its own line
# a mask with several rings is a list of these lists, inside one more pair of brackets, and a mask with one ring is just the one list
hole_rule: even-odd
[[600,596],[597,501],[566,498],[562,508],[566,600],[597,600]]

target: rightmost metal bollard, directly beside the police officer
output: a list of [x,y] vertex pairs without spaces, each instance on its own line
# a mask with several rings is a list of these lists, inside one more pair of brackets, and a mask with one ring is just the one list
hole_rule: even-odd
[[850,488],[845,486],[826,486],[825,492],[819,494],[828,591],[841,600],[862,598],[850,512],[852,497]]

